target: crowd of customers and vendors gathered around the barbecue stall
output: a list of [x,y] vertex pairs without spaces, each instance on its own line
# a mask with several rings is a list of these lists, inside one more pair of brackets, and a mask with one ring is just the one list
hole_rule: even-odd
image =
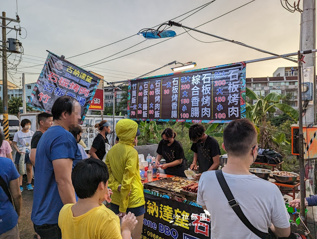
[[[146,202],[134,148],[140,135],[138,124],[119,120],[117,143],[110,147],[106,138],[110,123],[101,121],[87,154],[81,143],[80,112],[74,98],[63,96],[54,102],[52,114],[38,115],[35,133],[30,130],[31,121],[23,119],[22,130],[13,139],[14,157],[0,134],[0,239],[19,238],[25,163],[26,188],[34,188],[31,220],[38,238],[141,238]],[[194,152],[190,168],[198,171],[197,202],[210,213],[211,237],[264,238],[268,232],[289,237],[289,214],[281,192],[249,172],[259,149],[253,124],[236,119],[226,126],[222,148],[228,160],[221,171],[217,170],[219,144],[205,131],[199,123],[189,129]],[[155,164],[169,175],[185,177],[186,159],[176,136],[171,128],[162,132]],[[166,163],[161,164],[162,158]],[[316,198],[307,198],[305,204],[316,205]],[[299,207],[298,200],[290,204]]]

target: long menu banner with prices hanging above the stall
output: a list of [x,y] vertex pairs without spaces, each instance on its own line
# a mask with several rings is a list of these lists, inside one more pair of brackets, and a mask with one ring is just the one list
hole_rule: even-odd
[[228,122],[246,117],[246,64],[239,62],[128,81],[128,118]]

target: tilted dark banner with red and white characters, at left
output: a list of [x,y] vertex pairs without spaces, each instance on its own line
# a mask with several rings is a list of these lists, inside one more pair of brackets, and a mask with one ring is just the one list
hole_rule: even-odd
[[51,113],[58,97],[71,96],[81,106],[82,124],[99,81],[97,76],[49,52],[28,105]]

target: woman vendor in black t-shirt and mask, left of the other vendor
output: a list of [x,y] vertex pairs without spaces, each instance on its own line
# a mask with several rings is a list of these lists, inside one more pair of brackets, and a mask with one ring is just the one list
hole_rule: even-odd
[[[165,128],[161,134],[162,140],[158,146],[158,156],[155,164],[157,167],[165,170],[166,174],[186,178],[184,171],[186,170],[185,156],[182,144],[175,140],[177,133],[171,128]],[[165,164],[159,164],[164,158]]]

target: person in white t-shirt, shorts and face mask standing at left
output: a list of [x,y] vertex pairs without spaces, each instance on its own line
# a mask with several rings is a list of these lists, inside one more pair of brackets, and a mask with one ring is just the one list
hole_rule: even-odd
[[[14,163],[16,165],[17,170],[19,171],[19,162],[21,154],[25,154],[25,163],[26,163],[26,172],[27,172],[27,179],[28,184],[26,189],[33,190],[32,187],[32,162],[30,161],[30,152],[31,152],[31,140],[34,132],[29,130],[31,128],[31,121],[29,119],[22,119],[21,121],[22,129],[17,131],[13,137],[13,148],[16,150],[14,155]],[[22,186],[22,175],[20,176],[20,190],[23,191]]]

